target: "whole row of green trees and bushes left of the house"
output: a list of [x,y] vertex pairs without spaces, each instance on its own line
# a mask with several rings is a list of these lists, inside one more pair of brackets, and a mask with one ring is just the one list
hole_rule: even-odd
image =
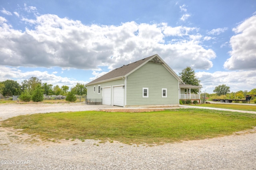
[[[75,87],[68,86],[53,86],[52,84],[42,83],[37,77],[31,77],[24,80],[21,84],[14,80],[5,80],[0,82],[0,94],[6,96],[20,96],[21,100],[33,100],[40,102],[44,95],[63,95],[68,99],[71,97],[74,100],[75,95],[86,95],[87,89],[85,84],[77,83]],[[67,99],[66,98],[66,99]]]

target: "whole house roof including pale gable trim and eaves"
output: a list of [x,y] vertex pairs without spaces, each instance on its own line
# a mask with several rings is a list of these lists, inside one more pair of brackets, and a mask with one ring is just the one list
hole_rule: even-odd
[[110,80],[120,79],[122,77],[125,77],[125,76],[128,76],[128,75],[132,74],[132,72],[136,71],[138,68],[142,67],[144,64],[146,64],[148,62],[163,64],[164,67],[178,81],[182,82],[180,77],[156,54],[156,55],[152,55],[150,57],[147,57],[145,59],[141,59],[139,61],[136,61],[134,63],[130,63],[130,64],[127,64],[127,65],[123,65],[119,68],[116,68],[116,69],[104,74],[103,76],[100,76],[99,78],[96,78],[95,80],[89,82],[86,85],[92,85],[92,84],[96,84],[96,83],[100,83],[100,82],[107,82],[107,81],[110,81]]

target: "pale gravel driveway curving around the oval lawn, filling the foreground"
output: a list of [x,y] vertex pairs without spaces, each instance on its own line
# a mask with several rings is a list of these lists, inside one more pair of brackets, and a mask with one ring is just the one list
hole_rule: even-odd
[[[27,113],[110,108],[85,104],[0,104],[0,120]],[[118,107],[111,107],[118,108]],[[120,107],[119,107],[120,108]],[[4,170],[255,170],[256,129],[230,136],[154,147],[60,140],[42,142],[0,127],[0,169]]]

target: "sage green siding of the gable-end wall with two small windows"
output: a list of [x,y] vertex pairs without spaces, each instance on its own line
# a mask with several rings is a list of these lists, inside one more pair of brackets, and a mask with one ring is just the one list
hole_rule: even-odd
[[[126,105],[178,104],[178,80],[162,65],[146,63],[128,76]],[[142,97],[142,88],[148,88],[148,98]],[[162,98],[162,88],[167,98]]]

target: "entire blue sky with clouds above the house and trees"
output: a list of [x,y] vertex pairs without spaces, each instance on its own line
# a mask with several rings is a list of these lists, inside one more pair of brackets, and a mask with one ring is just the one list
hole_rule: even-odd
[[155,54],[202,92],[256,88],[256,0],[0,0],[0,81],[71,88]]

